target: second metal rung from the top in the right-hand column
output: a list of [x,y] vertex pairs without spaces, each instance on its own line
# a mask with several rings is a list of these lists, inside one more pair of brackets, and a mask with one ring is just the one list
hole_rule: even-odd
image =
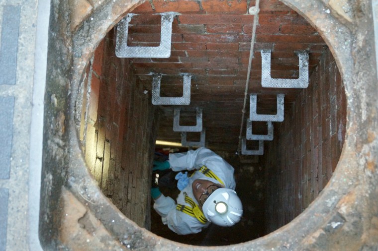
[[277,94],[277,114],[257,114],[257,94],[251,94],[249,100],[249,119],[251,121],[275,121],[283,122],[283,98],[284,94]]

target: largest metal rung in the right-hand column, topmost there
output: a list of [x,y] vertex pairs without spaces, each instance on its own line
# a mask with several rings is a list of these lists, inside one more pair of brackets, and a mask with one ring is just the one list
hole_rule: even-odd
[[307,88],[308,86],[308,53],[298,53],[299,78],[271,77],[271,50],[261,51],[261,85],[271,88]]

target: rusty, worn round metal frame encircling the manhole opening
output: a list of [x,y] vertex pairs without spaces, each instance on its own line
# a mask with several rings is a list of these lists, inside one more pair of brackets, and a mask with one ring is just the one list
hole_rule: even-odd
[[[348,94],[346,139],[344,141],[340,160],[337,164],[337,168],[332,176],[332,179],[329,181],[327,187],[323,189],[322,193],[318,195],[318,197],[307,209],[304,210],[304,212],[302,212],[298,217],[286,224],[284,227],[267,236],[242,244],[218,247],[219,250],[232,250],[234,248],[238,248],[238,250],[261,250],[268,248],[270,250],[305,249],[306,247],[314,247],[313,245],[316,244],[316,241],[318,240],[319,242],[326,242],[327,239],[321,239],[321,234],[317,231],[328,226],[331,221],[335,219],[335,217],[333,217],[335,214],[340,214],[340,210],[338,210],[340,205],[344,205],[344,210],[346,210],[345,207],[349,210],[353,210],[353,203],[343,202],[343,198],[345,198],[345,196],[351,192],[358,192],[358,181],[364,180],[364,184],[366,185],[368,185],[369,182],[368,177],[362,175],[366,171],[361,171],[361,167],[356,168],[360,166],[360,163],[362,163],[363,167],[366,167],[367,165],[366,161],[362,161],[360,157],[364,154],[363,151],[367,150],[366,148],[365,150],[364,148],[357,148],[357,145],[362,143],[371,149],[372,147],[377,147],[377,140],[370,142],[372,145],[368,146],[368,139],[357,139],[355,136],[350,136],[355,133],[358,134],[359,131],[365,131],[363,123],[358,123],[362,115],[358,114],[355,108],[360,107],[360,103],[366,103],[366,100],[362,100],[361,95],[358,94],[358,92],[361,90],[357,90],[356,87],[353,87],[353,85],[356,84],[354,81],[358,81],[358,78],[356,80],[353,78],[354,68],[351,53],[352,45],[348,44],[348,41],[352,41],[353,35],[347,25],[340,23],[332,14],[329,13],[329,9],[321,0],[282,1],[304,16],[306,20],[320,32],[323,39],[330,47],[343,77],[343,82],[346,87],[345,91]],[[88,39],[92,41],[92,43],[73,44],[73,51],[81,51],[81,57],[72,55],[74,67],[71,69],[71,99],[68,101],[68,105],[72,107],[71,109],[74,109],[75,107],[77,90],[82,74],[87,62],[89,62],[90,58],[92,57],[96,46],[105,36],[106,32],[122,18],[122,15],[124,15],[126,11],[134,8],[136,5],[142,2],[143,1],[138,0],[107,1],[103,3],[103,5],[97,6],[93,13],[87,17],[86,20],[90,24],[89,30],[79,29],[73,34],[74,38],[81,37],[83,34],[86,34],[86,36],[89,36]],[[123,8],[119,8],[119,6],[123,6]],[[101,19],[101,16],[103,16],[103,19],[100,20],[102,23],[98,21],[98,18]],[[334,31],[337,32],[331,33]],[[372,119],[373,122],[377,121],[377,118],[372,117],[372,115],[365,114],[365,116],[364,122],[367,118]],[[68,122],[68,126],[71,131],[76,130],[73,117],[74,116],[70,116]],[[362,118],[364,119],[364,117]],[[121,240],[125,234],[128,234],[133,235],[134,238],[138,239],[138,242],[133,242],[132,246],[128,247],[131,249],[211,249],[206,247],[184,245],[158,237],[153,233],[138,227],[134,222],[120,214],[118,209],[115,208],[115,206],[112,205],[101,193],[100,189],[98,187],[96,188],[93,178],[86,169],[86,162],[83,156],[80,155],[79,157],[76,157],[78,155],[77,153],[81,152],[81,148],[75,133],[71,133],[68,143],[70,145],[69,152],[73,154],[72,156],[75,156],[75,158],[69,158],[69,167],[67,168],[67,172],[70,177],[75,177],[78,182],[80,181],[81,185],[91,188],[91,194],[89,195],[93,195],[93,197],[96,198],[96,203],[88,203],[85,201],[85,199],[81,198],[80,191],[75,187],[71,186],[68,189],[75,194],[75,196],[83,204],[86,204],[88,210],[90,210],[102,223],[102,225],[111,233],[115,242],[117,242],[117,240]],[[347,182],[343,182],[344,180]],[[105,209],[114,211],[114,213],[112,213],[112,221],[107,215],[98,213],[99,211]],[[122,229],[122,233],[120,233],[119,230],[114,229],[114,224],[112,223],[114,221],[117,221],[117,229]]]

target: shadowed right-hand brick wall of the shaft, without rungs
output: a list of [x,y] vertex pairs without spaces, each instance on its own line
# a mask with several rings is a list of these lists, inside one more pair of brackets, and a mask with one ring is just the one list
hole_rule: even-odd
[[346,97],[328,48],[310,84],[285,107],[275,123],[274,141],[265,141],[268,231],[300,214],[326,186],[336,168],[345,137]]

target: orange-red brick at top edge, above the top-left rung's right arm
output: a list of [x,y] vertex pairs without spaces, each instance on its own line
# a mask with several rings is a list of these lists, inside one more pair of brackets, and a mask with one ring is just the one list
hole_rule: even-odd
[[172,1],[172,0],[154,0],[156,12],[175,11],[180,13],[191,13],[199,11],[197,1]]

